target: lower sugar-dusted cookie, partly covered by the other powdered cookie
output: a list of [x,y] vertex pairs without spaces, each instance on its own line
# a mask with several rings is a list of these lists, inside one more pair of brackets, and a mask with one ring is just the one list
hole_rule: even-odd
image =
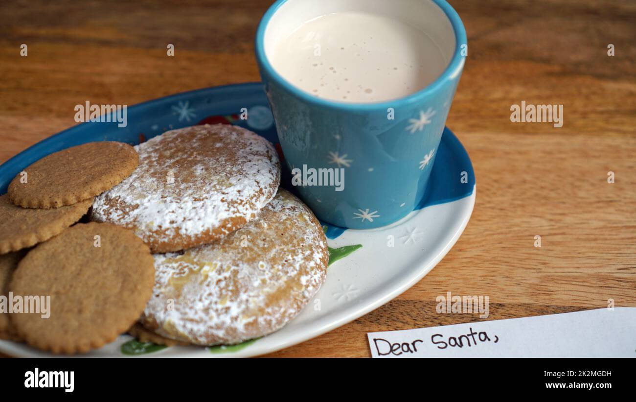
[[155,289],[140,322],[197,345],[267,335],[315,295],[328,261],[320,223],[280,189],[259,219],[217,242],[155,254]]

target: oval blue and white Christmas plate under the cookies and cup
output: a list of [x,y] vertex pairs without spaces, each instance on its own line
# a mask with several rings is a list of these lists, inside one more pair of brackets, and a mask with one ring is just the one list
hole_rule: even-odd
[[[242,111],[247,111],[247,120],[241,120]],[[31,163],[84,142],[139,144],[165,130],[197,123],[236,124],[274,144],[278,142],[260,83],[204,88],[151,100],[128,107],[127,120],[128,125],[123,128],[117,123],[83,123],[38,142],[0,166],[0,193],[5,193],[11,179]],[[284,172],[283,182],[288,179],[289,173]],[[428,198],[417,211],[393,225],[374,230],[324,226],[332,262],[326,281],[307,307],[284,328],[241,345],[212,348],[161,348],[134,343],[131,336],[121,335],[81,356],[247,357],[274,352],[331,331],[389,302],[432,270],[464,231],[473,212],[475,190],[470,158],[457,137],[445,128]],[[126,346],[122,348],[123,345]],[[53,356],[5,340],[0,340],[0,350],[11,356]]]

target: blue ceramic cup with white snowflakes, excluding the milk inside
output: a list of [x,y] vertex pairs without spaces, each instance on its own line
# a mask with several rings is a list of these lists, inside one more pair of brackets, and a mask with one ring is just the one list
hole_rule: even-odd
[[[377,103],[327,100],[295,87],[273,68],[268,52],[286,29],[340,11],[415,25],[439,46],[446,69],[418,92]],[[293,184],[319,219],[377,228],[403,218],[427,197],[466,43],[459,15],[444,0],[279,0],[266,11],[256,34],[256,59]],[[344,180],[337,186],[338,177],[329,175],[340,171]],[[317,177],[324,178],[322,185]]]

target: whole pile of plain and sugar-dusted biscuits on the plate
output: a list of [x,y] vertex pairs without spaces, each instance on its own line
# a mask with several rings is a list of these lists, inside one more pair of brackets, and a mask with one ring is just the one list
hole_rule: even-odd
[[279,184],[272,144],[232,125],[46,156],[0,197],[0,293],[50,295],[50,317],[0,311],[0,336],[70,354],[127,330],[164,345],[277,331],[329,259],[314,214]]

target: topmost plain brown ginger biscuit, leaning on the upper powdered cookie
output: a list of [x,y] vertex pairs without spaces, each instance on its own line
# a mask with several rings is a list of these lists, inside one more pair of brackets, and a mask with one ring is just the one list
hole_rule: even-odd
[[9,184],[11,202],[25,208],[57,208],[95,197],[128,177],[139,165],[123,142],[88,142],[33,163]]

